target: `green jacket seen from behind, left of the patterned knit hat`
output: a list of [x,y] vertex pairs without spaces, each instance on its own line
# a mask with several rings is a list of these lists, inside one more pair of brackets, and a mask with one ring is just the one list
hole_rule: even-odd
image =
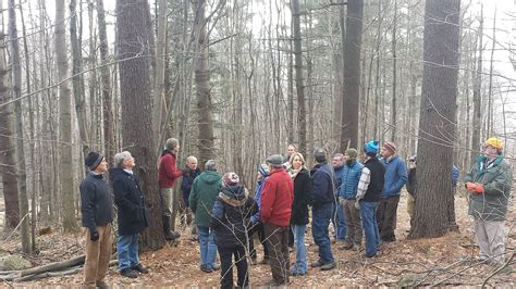
[[195,224],[199,227],[210,226],[210,214],[222,185],[221,179],[214,171],[202,172],[194,179],[188,201],[195,214]]

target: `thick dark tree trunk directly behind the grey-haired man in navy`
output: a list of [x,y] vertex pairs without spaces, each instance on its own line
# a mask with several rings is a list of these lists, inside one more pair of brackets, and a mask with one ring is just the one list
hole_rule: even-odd
[[[149,227],[143,234],[143,249],[163,247],[161,206],[157,175],[150,84],[150,37],[152,35],[149,4],[146,0],[116,0],[118,59],[132,60],[119,64],[122,99],[123,147],[136,159],[137,175],[150,209]],[[142,56],[138,56],[142,55]]]

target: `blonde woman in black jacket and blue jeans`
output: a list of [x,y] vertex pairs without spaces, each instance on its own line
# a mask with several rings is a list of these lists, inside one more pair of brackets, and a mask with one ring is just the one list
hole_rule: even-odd
[[306,248],[305,230],[308,224],[308,205],[311,204],[310,172],[305,167],[305,158],[296,152],[291,156],[288,174],[294,181],[294,202],[292,203],[291,229],[296,244],[296,262],[292,268],[293,276],[305,275]]

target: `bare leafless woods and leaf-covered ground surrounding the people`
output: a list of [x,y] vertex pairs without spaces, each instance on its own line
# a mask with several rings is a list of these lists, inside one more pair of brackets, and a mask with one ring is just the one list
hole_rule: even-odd
[[[180,184],[172,229],[182,237],[162,235],[158,161],[171,137],[181,169],[188,155],[201,169],[216,160],[251,193],[259,165],[288,143],[308,167],[316,148],[331,156],[369,140],[396,143],[403,160],[417,155],[415,225],[404,189],[403,237],[372,261],[334,248],[337,271],[309,271],[292,286],[516,282],[514,272],[471,263],[478,247],[463,184],[488,138],[516,164],[514,1],[2,0],[0,15],[1,287],[81,285],[79,184],[90,151],[109,167],[131,152],[150,213],[140,249],[151,274],[131,282],[111,267],[108,281],[218,286],[219,273],[198,272]],[[453,165],[455,192],[443,177]],[[311,234],[306,242],[315,259]],[[13,256],[21,267],[8,266]],[[249,272],[251,286],[270,274]]]

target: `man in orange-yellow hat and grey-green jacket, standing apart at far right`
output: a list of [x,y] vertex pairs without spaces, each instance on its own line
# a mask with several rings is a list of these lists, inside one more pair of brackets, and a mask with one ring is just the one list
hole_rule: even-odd
[[513,172],[503,160],[503,142],[490,138],[484,155],[477,156],[464,183],[470,192],[469,215],[480,247],[479,261],[501,265],[505,261],[505,215],[513,185]]

